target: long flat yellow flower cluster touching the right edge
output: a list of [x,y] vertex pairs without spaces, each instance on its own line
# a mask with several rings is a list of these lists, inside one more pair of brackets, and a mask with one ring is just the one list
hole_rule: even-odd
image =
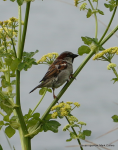
[[98,53],[96,54],[94,57],[93,57],[93,60],[95,59],[98,59],[100,57],[102,57],[104,54],[106,53],[110,53],[110,54],[115,54],[118,55],[118,47],[111,47],[111,48],[108,48],[106,50],[103,50],[101,53]]

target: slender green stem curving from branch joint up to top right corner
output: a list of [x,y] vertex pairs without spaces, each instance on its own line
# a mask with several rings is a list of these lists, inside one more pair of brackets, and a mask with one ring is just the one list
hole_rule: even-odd
[[[117,4],[117,3],[118,3],[118,1],[116,2],[116,4]],[[106,28],[104,34],[102,35],[102,37],[100,38],[100,40],[99,40],[99,42],[98,42],[99,44],[101,44],[101,41],[103,40],[103,38],[105,37],[107,31],[109,30],[110,25],[111,25],[111,23],[112,23],[112,21],[113,21],[113,18],[114,18],[114,16],[115,16],[116,10],[117,10],[117,6],[115,7],[115,9],[114,9],[114,11],[113,11],[113,14],[112,14],[112,16],[111,16],[111,19],[110,19],[110,21],[109,21],[109,24],[108,24],[108,26],[107,26],[107,28]]]

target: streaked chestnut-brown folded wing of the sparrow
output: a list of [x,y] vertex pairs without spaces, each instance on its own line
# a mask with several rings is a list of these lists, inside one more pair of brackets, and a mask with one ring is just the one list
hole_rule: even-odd
[[67,62],[60,60],[55,60],[53,64],[49,67],[47,73],[43,77],[41,81],[45,81],[46,79],[56,77],[61,70],[64,70],[67,68]]

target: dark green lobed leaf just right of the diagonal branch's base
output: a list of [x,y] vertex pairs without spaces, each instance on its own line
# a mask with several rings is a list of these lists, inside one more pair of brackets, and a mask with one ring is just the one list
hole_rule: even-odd
[[57,133],[58,127],[60,125],[61,124],[59,122],[57,122],[55,120],[50,120],[50,121],[47,121],[46,123],[43,124],[43,130],[44,130],[44,132],[51,130],[52,132]]

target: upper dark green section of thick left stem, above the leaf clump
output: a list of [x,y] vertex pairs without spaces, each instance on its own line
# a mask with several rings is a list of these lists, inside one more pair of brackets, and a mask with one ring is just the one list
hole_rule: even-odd
[[30,2],[27,2],[25,20],[24,20],[24,28],[23,28],[23,34],[22,34],[22,40],[21,40],[21,47],[20,47],[20,51],[18,51],[18,53],[17,53],[17,55],[19,56],[20,59],[22,59],[24,45],[25,45],[25,38],[26,38],[26,31],[27,31],[27,25],[28,25],[29,11],[30,11]]

